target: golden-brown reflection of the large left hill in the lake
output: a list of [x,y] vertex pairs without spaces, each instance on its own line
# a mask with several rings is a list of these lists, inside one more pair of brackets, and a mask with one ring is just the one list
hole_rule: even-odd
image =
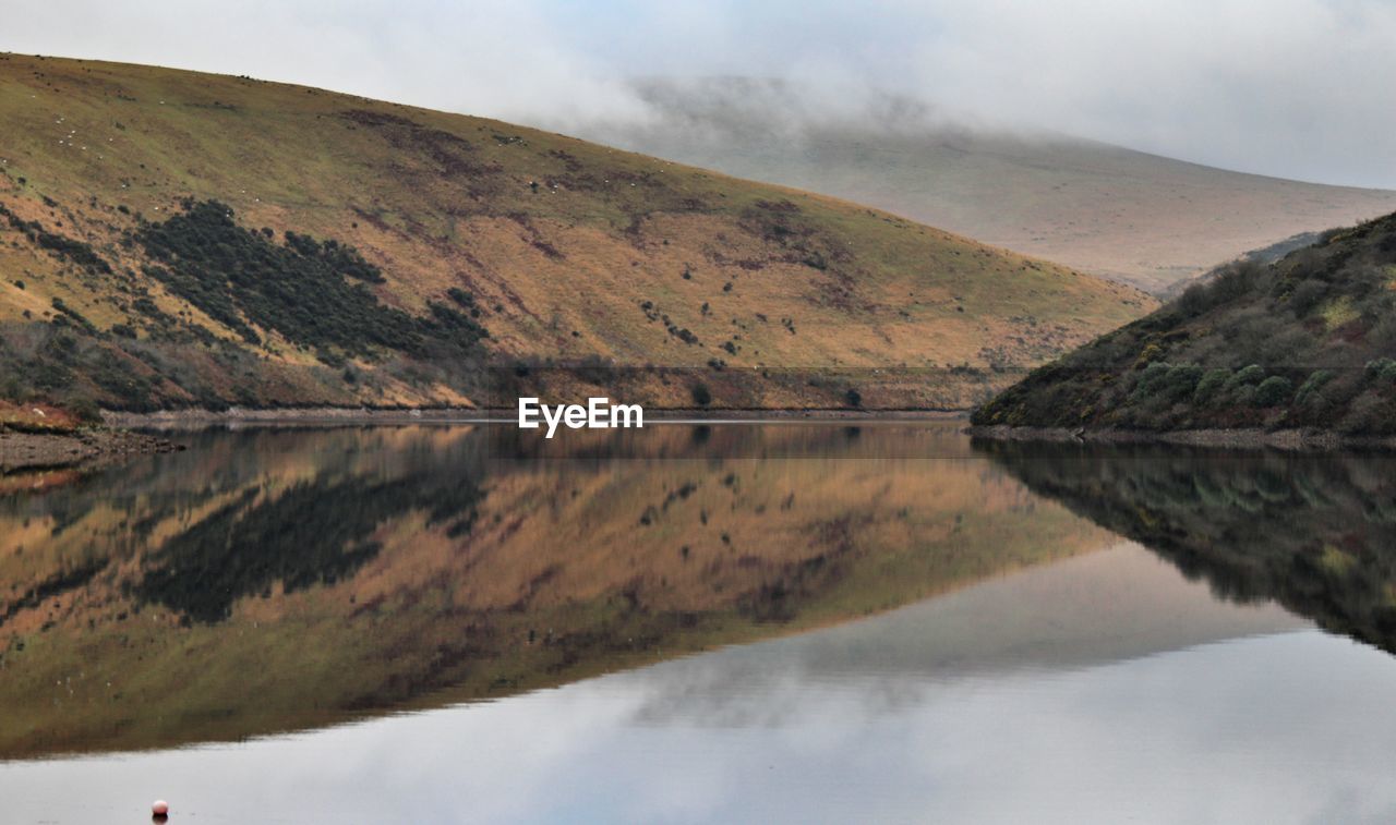
[[0,755],[505,695],[1110,540],[938,433],[214,433],[0,498]]

